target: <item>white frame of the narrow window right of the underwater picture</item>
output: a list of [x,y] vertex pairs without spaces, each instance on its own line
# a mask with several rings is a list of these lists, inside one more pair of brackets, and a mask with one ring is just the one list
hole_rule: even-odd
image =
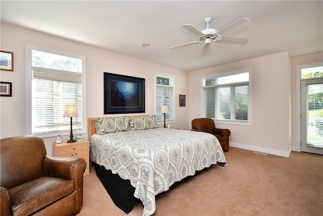
[[[167,86],[167,85],[161,85],[161,84],[157,84],[157,77],[164,77],[164,78],[169,78],[172,79],[172,83],[173,85]],[[155,95],[155,101],[154,101],[154,111],[155,111],[155,115],[157,116],[157,113],[160,113],[160,110],[157,111],[157,86],[165,86],[165,87],[170,87],[173,88],[173,98],[172,98],[172,103],[173,103],[173,119],[168,120],[166,117],[166,124],[170,124],[170,123],[175,123],[175,77],[168,75],[168,74],[161,74],[161,73],[157,73],[155,72],[154,74],[154,95]],[[167,116],[167,114],[166,114]],[[162,120],[157,120],[157,124],[164,124],[164,117]]]

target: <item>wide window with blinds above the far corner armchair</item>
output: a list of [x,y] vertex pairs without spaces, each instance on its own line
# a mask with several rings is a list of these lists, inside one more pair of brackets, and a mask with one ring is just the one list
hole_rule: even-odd
[[202,117],[250,124],[251,70],[203,78]]

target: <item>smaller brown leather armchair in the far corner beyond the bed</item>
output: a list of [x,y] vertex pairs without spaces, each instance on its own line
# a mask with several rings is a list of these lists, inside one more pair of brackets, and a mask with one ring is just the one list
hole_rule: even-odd
[[212,119],[200,118],[192,120],[192,131],[210,133],[216,136],[224,151],[229,150],[229,129],[216,128],[216,124]]

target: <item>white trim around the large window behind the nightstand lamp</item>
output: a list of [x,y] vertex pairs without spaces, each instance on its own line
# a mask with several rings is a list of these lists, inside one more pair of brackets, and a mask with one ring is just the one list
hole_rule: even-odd
[[[50,52],[57,55],[68,56],[76,59],[82,60],[82,129],[74,130],[73,135],[87,133],[87,117],[86,117],[86,58],[83,56],[78,56],[72,53],[58,51],[54,49],[44,48],[35,45],[26,45],[26,134],[32,135],[32,49],[39,51]],[[63,113],[62,113],[63,115]],[[57,133],[61,136],[70,135],[70,130],[57,131],[50,133],[37,134],[41,138],[45,137],[56,137]]]

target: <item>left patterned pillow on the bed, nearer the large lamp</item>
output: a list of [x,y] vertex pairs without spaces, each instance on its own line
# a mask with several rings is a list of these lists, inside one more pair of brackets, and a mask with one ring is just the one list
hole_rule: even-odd
[[129,130],[129,117],[103,117],[92,122],[92,125],[95,127],[96,133],[99,135],[127,131]]

